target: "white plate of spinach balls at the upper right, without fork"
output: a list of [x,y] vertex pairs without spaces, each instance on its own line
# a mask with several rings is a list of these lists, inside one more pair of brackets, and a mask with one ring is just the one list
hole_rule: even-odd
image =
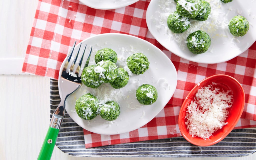
[[[224,4],[219,0],[206,0],[211,4],[211,17],[205,22],[190,21],[193,26],[201,26],[211,37],[207,52],[195,55],[185,43],[187,36],[198,30],[191,27],[182,34],[175,34],[167,27],[167,17],[176,10],[173,0],[152,0],[147,8],[146,22],[150,33],[166,49],[184,59],[198,63],[220,63],[228,61],[247,50],[256,40],[256,1],[232,1]],[[217,5],[214,5],[216,3]],[[242,15],[250,23],[249,31],[243,37],[233,37],[228,29],[229,20]],[[211,21],[213,21],[211,23]],[[218,24],[219,23],[219,24]],[[218,26],[218,27],[216,27]]]

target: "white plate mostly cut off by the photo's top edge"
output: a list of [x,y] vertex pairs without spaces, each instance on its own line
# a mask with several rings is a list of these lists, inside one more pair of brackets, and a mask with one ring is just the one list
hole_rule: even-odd
[[129,6],[138,0],[79,0],[81,3],[95,9],[116,9]]

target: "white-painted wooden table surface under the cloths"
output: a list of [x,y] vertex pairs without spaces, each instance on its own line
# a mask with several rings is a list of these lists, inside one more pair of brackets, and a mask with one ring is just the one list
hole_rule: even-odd
[[[45,77],[21,74],[37,0],[0,2],[0,159],[36,159],[49,126],[49,83]],[[103,159],[72,157],[57,147],[51,159]],[[175,158],[104,158],[175,159]],[[191,158],[177,158],[191,159]],[[237,158],[195,160],[254,160],[256,154]]]

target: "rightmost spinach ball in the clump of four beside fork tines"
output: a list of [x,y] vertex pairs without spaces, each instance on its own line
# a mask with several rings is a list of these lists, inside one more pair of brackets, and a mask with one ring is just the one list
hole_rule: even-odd
[[116,79],[110,85],[115,89],[123,88],[129,81],[129,74],[123,68],[118,68],[117,74]]

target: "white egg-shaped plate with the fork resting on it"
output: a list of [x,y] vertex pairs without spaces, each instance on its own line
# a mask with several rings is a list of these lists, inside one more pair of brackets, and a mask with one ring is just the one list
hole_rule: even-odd
[[[116,65],[127,70],[130,77],[128,84],[121,89],[114,89],[108,83],[101,84],[97,89],[88,88],[82,84],[68,97],[66,110],[70,117],[84,129],[108,135],[133,131],[151,121],[172,97],[177,85],[176,69],[172,61],[150,42],[131,35],[107,33],[90,37],[81,43],[82,47],[85,44],[93,47],[89,65],[95,64],[94,57],[98,50],[111,48],[118,54]],[[77,51],[77,46],[74,51]],[[126,65],[127,57],[137,52],[142,52],[150,62],[149,69],[140,75],[131,73]],[[63,65],[64,63],[60,70]],[[60,76],[61,74],[59,78]],[[151,84],[157,89],[158,99],[152,105],[141,105],[136,99],[136,89],[142,84]],[[106,121],[98,115],[90,121],[81,119],[76,113],[75,103],[81,95],[86,93],[92,93],[103,101],[106,101],[104,97],[108,97],[118,102],[121,110],[119,118]],[[61,91],[60,97],[62,97]]]

